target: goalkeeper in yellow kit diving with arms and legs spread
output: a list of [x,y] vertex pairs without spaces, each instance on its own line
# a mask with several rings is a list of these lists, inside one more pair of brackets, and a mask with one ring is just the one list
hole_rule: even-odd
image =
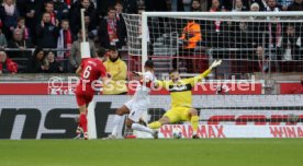
[[190,121],[193,129],[192,139],[199,139],[197,134],[199,117],[197,109],[191,106],[191,90],[194,87],[195,83],[207,76],[214,68],[221,64],[221,62],[222,60],[215,60],[206,71],[194,78],[180,79],[179,72],[172,71],[169,73],[170,81],[156,81],[156,86],[165,87],[170,92],[171,109],[169,109],[158,121],[149,123],[148,127],[150,129],[158,129],[167,123]]

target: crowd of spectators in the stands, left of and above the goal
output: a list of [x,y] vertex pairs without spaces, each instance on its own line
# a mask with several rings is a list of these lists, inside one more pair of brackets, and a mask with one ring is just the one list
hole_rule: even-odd
[[[80,63],[81,22],[92,57],[99,48],[126,45],[126,26],[121,13],[145,11],[302,11],[303,0],[2,0],[0,5],[0,73],[72,72]],[[272,44],[279,24],[271,26]],[[289,32],[292,27],[287,27]],[[181,32],[180,32],[181,33]],[[283,40],[298,46],[293,33]],[[298,36],[295,36],[298,37]],[[289,39],[289,40],[288,40]],[[301,44],[300,44],[301,45]],[[258,46],[255,46],[257,48]],[[35,48],[35,51],[27,51]],[[5,51],[2,51],[4,50]],[[55,49],[55,50],[54,50]],[[18,50],[18,51],[16,51]],[[2,56],[3,55],[3,56]]]

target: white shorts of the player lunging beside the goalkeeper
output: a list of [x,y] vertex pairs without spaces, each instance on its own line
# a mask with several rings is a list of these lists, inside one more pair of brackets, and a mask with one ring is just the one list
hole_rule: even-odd
[[148,100],[128,100],[124,104],[130,109],[128,118],[134,122],[138,122],[142,114],[147,111],[149,102]]

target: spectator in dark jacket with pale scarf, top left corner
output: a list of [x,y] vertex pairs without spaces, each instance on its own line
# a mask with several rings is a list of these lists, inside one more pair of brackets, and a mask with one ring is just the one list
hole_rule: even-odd
[[4,25],[3,29],[5,29],[4,34],[7,34],[8,38],[11,38],[12,32],[16,26],[19,11],[15,5],[15,0],[3,0],[2,5],[4,8],[4,20],[3,20],[3,25]]

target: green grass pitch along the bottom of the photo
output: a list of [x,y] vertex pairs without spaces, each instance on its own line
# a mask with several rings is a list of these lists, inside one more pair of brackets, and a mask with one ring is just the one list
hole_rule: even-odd
[[0,141],[0,166],[303,166],[301,139]]

